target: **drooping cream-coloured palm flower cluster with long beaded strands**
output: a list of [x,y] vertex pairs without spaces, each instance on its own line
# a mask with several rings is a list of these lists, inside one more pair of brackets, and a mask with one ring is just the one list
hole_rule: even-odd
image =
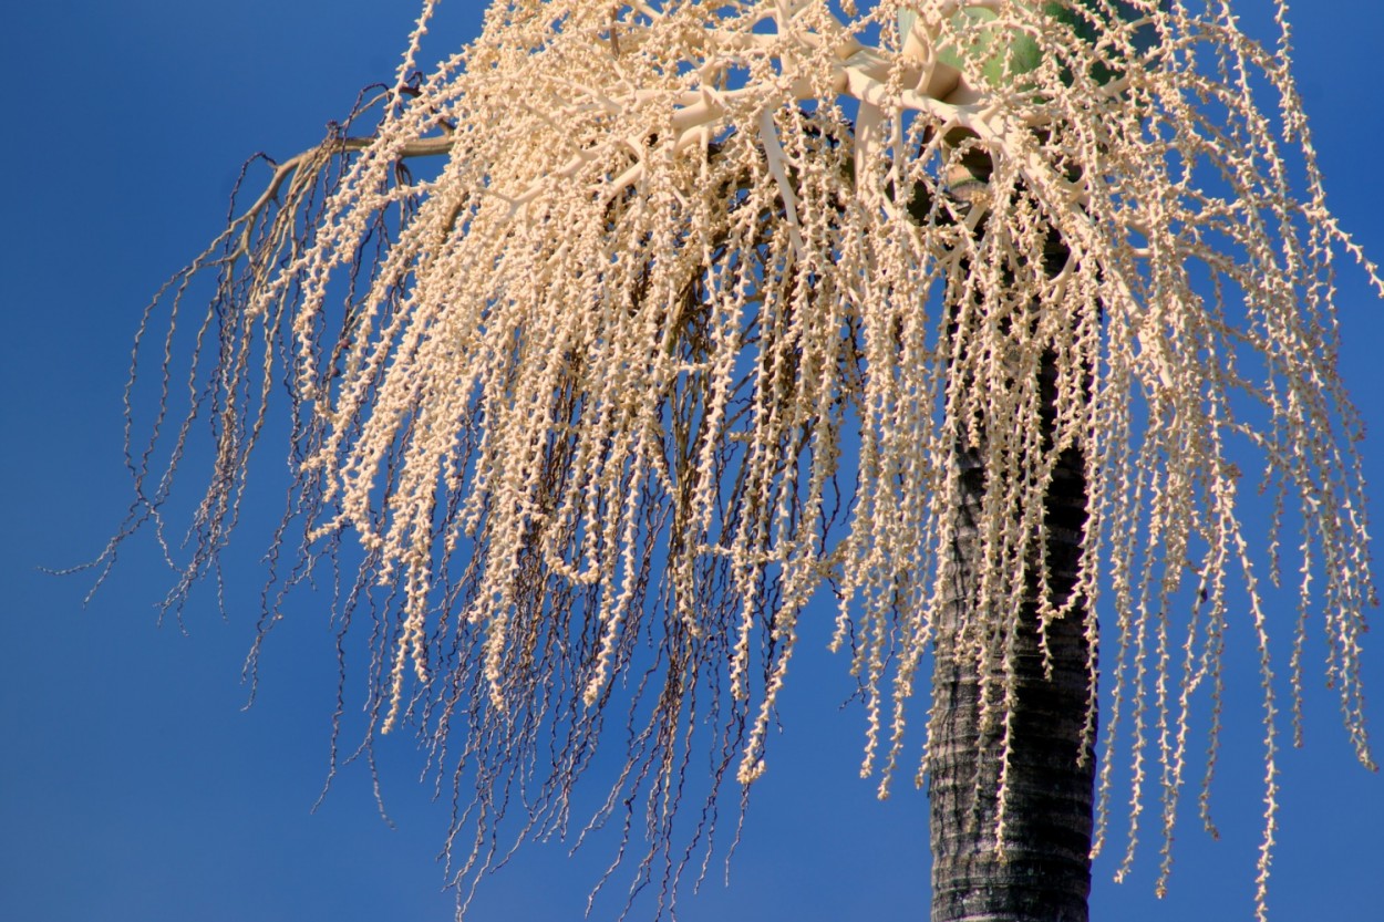
[[[1336,260],[1363,259],[1324,205],[1283,10],[1271,48],[1219,1],[866,6],[511,0],[419,73],[428,0],[394,83],[273,165],[145,318],[141,339],[163,306],[201,325],[188,368],[151,360],[191,403],[174,429],[166,396],[130,451],[122,534],[163,533],[210,421],[180,602],[286,390],[277,579],[332,568],[345,623],[374,615],[350,629],[374,651],[367,743],[407,724],[430,748],[458,878],[504,858],[509,813],[516,839],[566,831],[598,742],[623,768],[590,828],[642,822],[637,885],[664,896],[704,871],[717,795],[764,771],[823,586],[882,793],[940,637],[981,666],[1003,736],[1003,638],[1032,604],[1042,626],[1084,619],[1092,689],[1103,609],[1125,756],[1106,752],[1102,825],[1124,759],[1131,854],[1150,771],[1171,840],[1199,707],[1210,779],[1235,620],[1262,663],[1261,878],[1273,622],[1294,702],[1308,624],[1329,638],[1369,763],[1374,597],[1333,306]],[[210,309],[187,321],[202,274]],[[1071,451],[1086,518],[1059,593],[1042,508]],[[940,633],[959,457],[988,489],[976,598]],[[1255,487],[1269,563],[1241,512]],[[1286,619],[1265,588],[1280,543]],[[926,732],[909,739],[922,778]]]

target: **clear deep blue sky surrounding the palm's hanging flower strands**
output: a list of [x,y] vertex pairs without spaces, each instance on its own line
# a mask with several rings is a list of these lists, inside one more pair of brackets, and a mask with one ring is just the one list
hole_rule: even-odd
[[[1259,6],[1246,3],[1251,21],[1262,19],[1250,15]],[[480,3],[444,7],[435,51],[479,28]],[[1369,0],[1304,3],[1295,29],[1331,204],[1376,259],[1381,10]],[[255,521],[231,554],[230,617],[203,593],[185,631],[155,627],[169,575],[148,541],[86,608],[89,579],[39,570],[94,555],[126,505],[120,390],[147,296],[221,227],[248,154],[298,152],[361,86],[389,79],[414,15],[408,0],[44,0],[0,12],[0,919],[451,916],[433,861],[446,808],[414,784],[411,741],[392,738],[382,752],[394,828],[381,821],[358,766],[310,813],[335,694],[325,601],[298,598],[266,655],[256,706],[241,707],[259,586]],[[1349,271],[1341,305],[1342,374],[1384,432],[1384,313]],[[1384,443],[1372,439],[1365,453],[1372,511],[1384,522]],[[264,516],[277,514],[277,489],[260,498]],[[1384,700],[1378,644],[1367,663]],[[787,731],[752,803],[731,887],[713,880],[682,904],[682,918],[923,918],[925,797],[905,786],[879,803],[857,779],[861,718],[832,706],[844,663],[830,667],[796,674]],[[1251,666],[1237,669],[1248,676]],[[1283,757],[1273,918],[1378,922],[1384,778],[1352,761],[1334,699],[1318,685],[1308,748]],[[1384,728],[1378,707],[1374,716]],[[1122,886],[1110,883],[1114,856],[1102,858],[1095,919],[1250,918],[1255,717],[1244,707],[1228,728],[1215,790],[1222,840],[1194,822],[1179,826],[1172,893],[1161,903],[1151,896],[1153,836]],[[561,844],[531,847],[482,889],[469,918],[581,918],[608,854],[565,856]],[[617,905],[599,903],[592,918]]]

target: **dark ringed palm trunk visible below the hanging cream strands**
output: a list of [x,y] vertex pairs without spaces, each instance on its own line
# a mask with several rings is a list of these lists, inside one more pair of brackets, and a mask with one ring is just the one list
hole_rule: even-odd
[[[1048,357],[1042,386],[1049,411],[1055,381],[1056,368]],[[995,832],[1002,725],[983,725],[981,669],[992,670],[995,678],[1002,665],[981,666],[972,656],[956,656],[948,642],[967,622],[967,608],[976,604],[980,548],[976,523],[985,494],[978,451],[959,449],[956,462],[962,527],[949,561],[951,599],[938,629],[933,673],[931,922],[1086,922],[1095,756],[1082,753],[1092,694],[1084,605],[1048,627],[1050,677],[1044,671],[1034,605],[1024,611],[1013,638],[1016,702],[1009,716],[1009,793],[1001,856]],[[1075,583],[1086,518],[1080,450],[1067,450],[1059,458],[1044,515],[1050,586],[1066,597]],[[1005,642],[1005,638],[990,640]],[[990,687],[1002,687],[1002,681]]]

